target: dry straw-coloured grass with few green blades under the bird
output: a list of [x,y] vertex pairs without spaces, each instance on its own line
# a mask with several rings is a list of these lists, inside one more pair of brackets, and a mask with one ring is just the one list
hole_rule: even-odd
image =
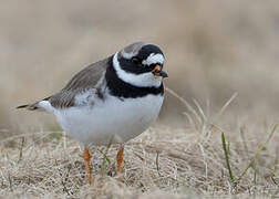
[[[177,94],[167,90],[174,96]],[[232,95],[231,98],[235,98]],[[128,142],[123,184],[115,179],[117,146],[92,147],[93,184],[84,178],[82,148],[62,132],[17,135],[0,142],[3,198],[276,198],[279,196],[277,124],[266,132],[224,130],[216,117],[177,98],[193,123],[154,126]],[[232,100],[228,102],[231,102]],[[210,122],[210,121],[214,121]],[[226,126],[226,123],[225,123]],[[248,126],[248,124],[247,124]],[[270,133],[268,133],[270,132]],[[266,142],[262,138],[268,135]],[[249,137],[249,139],[247,139]]]

